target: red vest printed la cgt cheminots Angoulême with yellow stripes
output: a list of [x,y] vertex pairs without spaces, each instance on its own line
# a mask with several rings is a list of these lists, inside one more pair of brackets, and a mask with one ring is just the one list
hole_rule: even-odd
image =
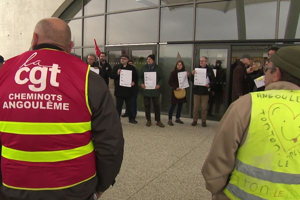
[[64,51],[38,49],[0,70],[3,185],[62,189],[95,176],[89,66]]

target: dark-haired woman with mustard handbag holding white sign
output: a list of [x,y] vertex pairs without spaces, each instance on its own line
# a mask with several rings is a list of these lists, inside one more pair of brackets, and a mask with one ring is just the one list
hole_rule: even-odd
[[[182,72],[182,74],[181,74],[181,72]],[[182,105],[183,105],[183,103],[186,102],[186,95],[184,95],[184,97],[182,97],[182,98],[176,98],[175,95],[174,95],[174,90],[183,92],[184,88],[189,87],[189,85],[188,85],[188,76],[189,76],[189,72],[185,71],[183,61],[178,60],[176,62],[175,68],[171,72],[169,80],[168,80],[168,83],[172,88],[171,106],[170,106],[169,112],[168,112],[168,122],[167,122],[168,125],[174,125],[173,122],[172,122],[172,115],[173,115],[173,111],[175,109],[176,104],[178,104],[178,105],[177,105],[175,122],[176,123],[181,123],[181,124],[183,123],[183,121],[180,120],[180,115],[181,115]],[[182,84],[185,79],[187,80],[187,85]]]

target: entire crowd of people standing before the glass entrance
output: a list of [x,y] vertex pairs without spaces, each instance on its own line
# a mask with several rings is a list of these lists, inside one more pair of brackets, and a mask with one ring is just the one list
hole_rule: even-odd
[[[276,52],[278,47],[271,47],[268,49],[268,57],[265,61],[265,64],[269,62],[269,57],[272,53]],[[108,77],[114,80],[114,95],[116,97],[116,109],[121,117],[128,117],[130,123],[137,123],[135,120],[136,109],[137,109],[137,92],[140,91],[143,96],[143,103],[145,108],[145,117],[146,117],[146,126],[152,124],[150,117],[150,104],[153,103],[154,108],[154,120],[156,125],[159,127],[164,127],[164,124],[160,120],[160,107],[159,107],[159,95],[160,95],[160,86],[163,82],[163,74],[160,67],[155,63],[155,55],[150,54],[147,56],[147,64],[141,67],[138,72],[137,68],[134,67],[132,60],[129,60],[127,55],[120,56],[120,63],[111,67],[108,62],[105,60],[106,53],[101,52],[100,65],[97,64],[94,55],[88,55],[87,63],[91,67],[99,68],[99,74],[105,79],[106,84],[108,85]],[[101,66],[101,63],[105,63],[106,67],[104,69]],[[231,100],[232,102],[238,99],[239,97],[251,92],[251,91],[263,91],[264,86],[259,86],[257,88],[254,84],[254,79],[264,75],[262,70],[262,64],[259,60],[252,60],[251,56],[247,53],[243,53],[240,56],[240,59],[234,63],[233,70],[233,82],[232,82],[232,93]],[[112,70],[111,70],[112,68]],[[197,85],[194,84],[194,74],[196,73],[197,68],[202,68],[206,70],[206,77],[208,79],[207,84]],[[119,84],[120,70],[131,70],[131,87],[121,86]],[[188,81],[191,81],[191,89],[193,94],[193,112],[192,112],[192,126],[197,125],[199,118],[199,111],[201,113],[201,126],[206,126],[206,117],[212,115],[212,106],[215,105],[215,109],[219,104],[224,100],[224,85],[222,82],[225,82],[226,74],[222,69],[222,61],[216,60],[215,66],[212,68],[208,66],[208,58],[206,56],[201,56],[199,58],[199,65],[195,66],[191,71],[186,73]],[[181,109],[183,103],[186,102],[186,92],[184,88],[179,87],[178,81],[178,72],[185,71],[185,66],[182,60],[177,60],[174,70],[170,72],[168,83],[171,88],[171,100],[170,107],[168,110],[168,121],[167,124],[173,126],[172,115],[175,107],[177,106],[175,122],[182,124],[183,121],[180,120]],[[144,84],[144,74],[145,72],[155,72],[156,83],[153,88],[146,88]],[[183,97],[177,98],[174,95],[174,90],[185,92]],[[184,90],[184,91],[183,91]],[[126,111],[124,114],[121,114],[121,109],[125,101]]]

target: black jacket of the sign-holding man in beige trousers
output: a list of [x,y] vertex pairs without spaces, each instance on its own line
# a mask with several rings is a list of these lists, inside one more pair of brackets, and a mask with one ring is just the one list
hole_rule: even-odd
[[[201,68],[200,66],[195,67],[195,68]],[[205,66],[204,68],[206,68],[206,77],[209,78],[209,86],[214,87],[215,86],[215,76],[213,73],[213,70],[209,67],[209,66]],[[202,85],[194,85],[193,81],[194,81],[194,75],[190,74],[190,81],[192,82],[192,91],[194,94],[198,94],[198,95],[208,95],[209,91],[208,88]]]

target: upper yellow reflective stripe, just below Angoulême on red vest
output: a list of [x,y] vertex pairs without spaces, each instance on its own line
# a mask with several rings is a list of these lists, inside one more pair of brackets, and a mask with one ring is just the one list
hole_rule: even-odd
[[77,123],[0,121],[0,131],[15,134],[70,134],[91,130],[90,121]]

